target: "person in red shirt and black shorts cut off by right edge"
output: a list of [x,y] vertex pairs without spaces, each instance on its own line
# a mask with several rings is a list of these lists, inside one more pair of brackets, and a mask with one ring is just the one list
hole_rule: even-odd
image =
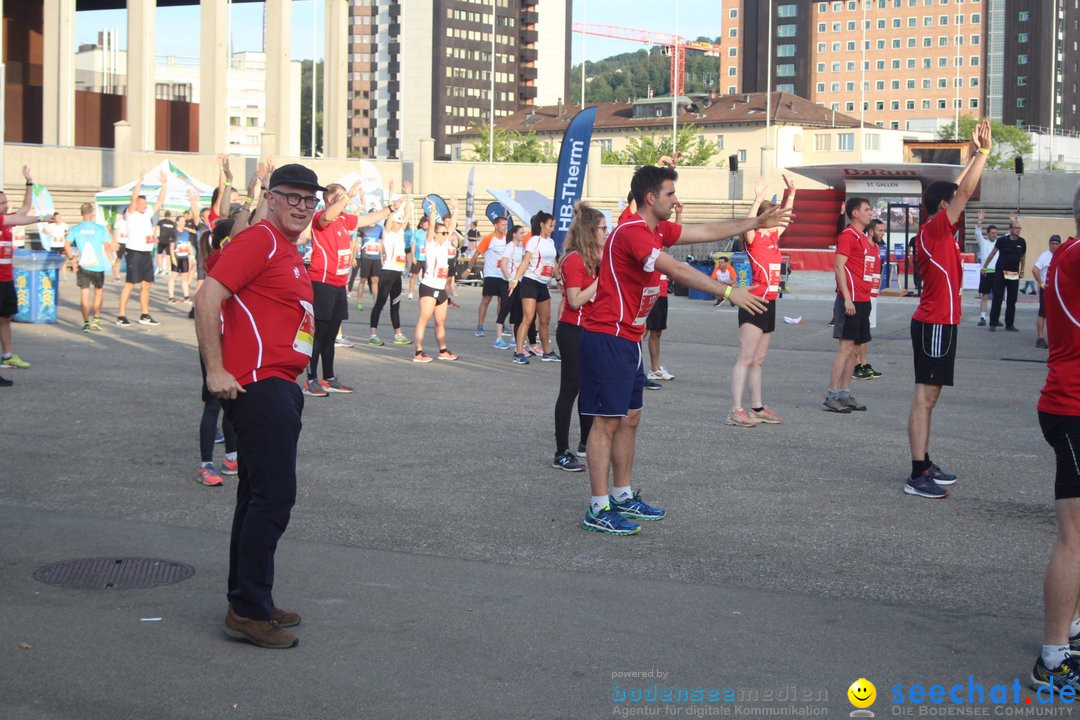
[[[1072,200],[1080,235],[1080,190]],[[1043,282],[1050,358],[1039,397],[1039,425],[1054,448],[1057,542],[1042,582],[1042,652],[1032,690],[1080,691],[1080,239],[1054,252]]]

